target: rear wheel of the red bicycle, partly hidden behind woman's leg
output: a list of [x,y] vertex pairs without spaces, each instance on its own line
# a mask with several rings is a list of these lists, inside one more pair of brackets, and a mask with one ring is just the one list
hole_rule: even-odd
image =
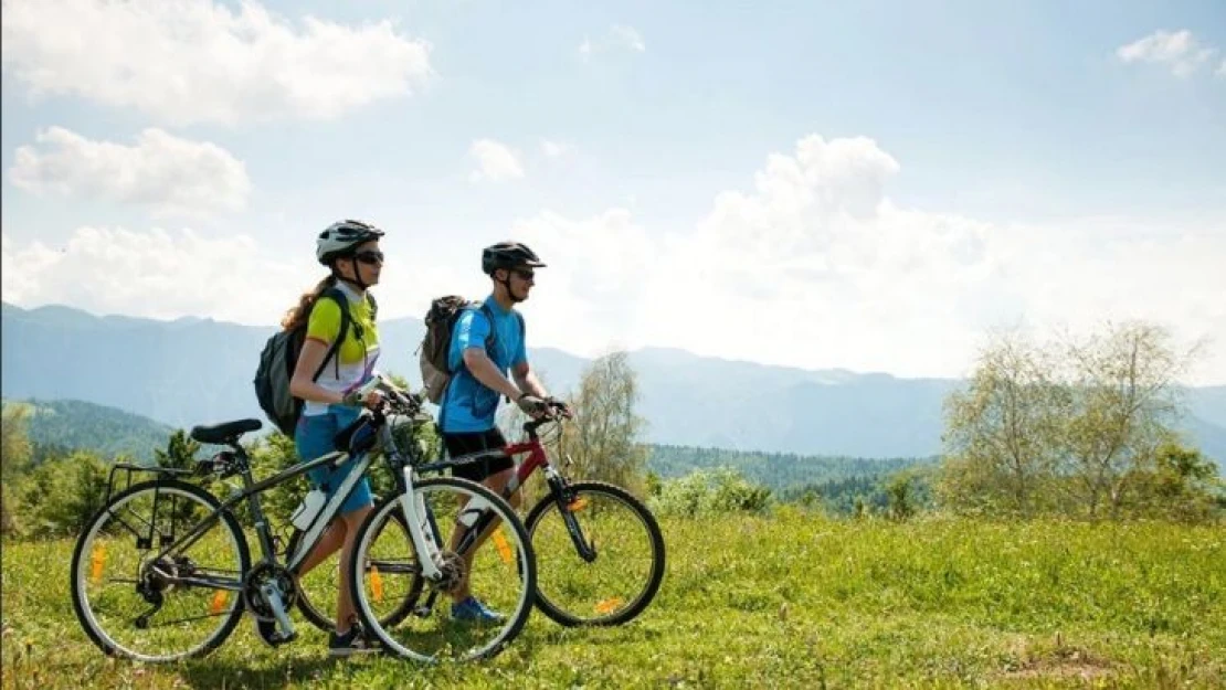
[[[408,527],[405,525],[405,516],[401,511],[392,511],[391,518],[384,521],[379,529],[387,532],[387,534],[380,533],[371,537],[375,543],[395,543],[397,539],[409,540]],[[303,534],[303,531],[294,529],[289,537],[287,554],[298,552]],[[337,592],[341,591],[337,570],[338,554],[340,552],[329,556],[313,567],[310,572],[298,578],[298,610],[311,625],[325,632],[336,627],[333,614],[336,613]],[[370,576],[369,570],[374,569],[383,583],[383,596],[379,602],[380,623],[384,627],[394,627],[413,610],[413,605],[417,604],[417,599],[422,594],[424,581],[416,572],[406,574],[401,564],[395,561],[374,559],[365,564],[365,569],[367,577]],[[395,605],[395,602],[400,602],[400,605]]]

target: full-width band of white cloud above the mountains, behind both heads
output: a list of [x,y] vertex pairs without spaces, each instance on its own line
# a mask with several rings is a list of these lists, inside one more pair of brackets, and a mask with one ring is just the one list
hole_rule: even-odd
[[[900,207],[888,195],[900,173],[872,140],[808,136],[687,227],[652,227],[624,208],[520,219],[508,234],[549,263],[525,305],[532,343],[959,376],[991,328],[1145,319],[1184,341],[1209,336],[1193,380],[1226,381],[1226,217],[987,223]],[[386,240],[386,317],[488,284],[467,251],[396,270],[419,240]],[[309,248],[288,262],[243,235],[121,228],[81,228],[63,246],[5,237],[0,268],[5,300],[22,305],[246,324],[276,322],[320,273]]]

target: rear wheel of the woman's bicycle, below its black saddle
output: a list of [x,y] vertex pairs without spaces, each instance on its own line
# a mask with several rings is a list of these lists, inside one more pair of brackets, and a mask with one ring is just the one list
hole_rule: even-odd
[[91,518],[72,553],[72,608],[103,652],[169,662],[205,654],[234,630],[250,554],[229,511],[201,522],[218,506],[192,484],[145,482]]

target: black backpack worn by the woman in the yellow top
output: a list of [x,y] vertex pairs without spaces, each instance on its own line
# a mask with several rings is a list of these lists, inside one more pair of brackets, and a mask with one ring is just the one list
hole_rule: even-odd
[[[349,316],[349,300],[338,288],[333,287],[324,290],[320,293],[319,299],[331,299],[341,306],[341,331],[337,333],[336,339],[332,341],[331,347],[329,347],[327,354],[324,355],[324,362],[315,370],[311,381],[319,380],[320,374],[324,373],[324,368],[327,366],[327,360],[337,354],[341,343],[345,342],[345,337],[349,332],[349,324],[353,321]],[[379,305],[369,293],[367,293],[367,299],[370,301],[370,314],[373,317]],[[353,324],[353,327],[360,341],[363,338],[362,325]],[[289,395],[289,380],[294,376],[294,368],[298,365],[298,355],[302,353],[305,339],[305,320],[295,328],[273,333],[265,343],[264,352],[260,353],[260,365],[255,370],[255,380],[253,381],[255,384],[255,397],[260,401],[260,408],[268,415],[268,420],[287,436],[294,435],[294,427],[298,424],[298,418],[302,417],[303,412],[302,398]],[[340,371],[340,358],[336,359],[335,365],[337,371]]]

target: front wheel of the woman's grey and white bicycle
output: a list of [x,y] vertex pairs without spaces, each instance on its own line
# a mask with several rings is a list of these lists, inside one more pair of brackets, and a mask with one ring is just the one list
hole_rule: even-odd
[[[485,487],[452,477],[413,487],[414,515],[439,547],[432,559],[443,572],[429,578],[412,538],[387,523],[403,515],[401,496],[379,504],[358,529],[349,563],[353,601],[367,630],[389,652],[421,662],[466,662],[493,657],[524,629],[532,610],[536,558],[527,532],[510,505]],[[473,501],[470,504],[470,501]],[[481,510],[471,510],[482,506]],[[473,527],[473,520],[478,520]],[[484,529],[478,529],[485,525]],[[409,614],[397,625],[384,620],[403,605],[414,581],[423,582]],[[455,608],[471,593],[484,604]]]

